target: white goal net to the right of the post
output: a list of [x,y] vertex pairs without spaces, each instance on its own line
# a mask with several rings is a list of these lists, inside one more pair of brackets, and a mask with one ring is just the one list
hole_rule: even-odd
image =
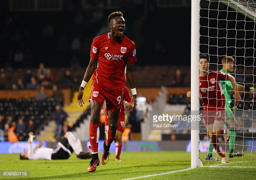
[[[200,123],[200,158],[203,166],[255,166],[256,165],[256,103],[254,103],[256,87],[256,1],[254,0],[200,0],[200,54],[209,55],[209,69],[221,70],[222,57],[232,56],[235,59],[233,71],[230,73],[237,83],[245,87],[240,93],[242,101],[233,109],[234,122],[237,127],[226,126],[232,132],[231,140],[225,142],[220,136],[228,163],[222,164],[214,158],[222,157],[213,149],[212,160],[209,136],[203,123]],[[191,49],[192,50],[192,49]],[[192,57],[192,56],[191,56]],[[191,75],[192,76],[192,75]],[[191,82],[192,84],[192,82]],[[193,88],[193,87],[191,87]],[[231,100],[234,100],[234,95]],[[232,103],[231,103],[232,106]],[[202,105],[200,105],[202,108]],[[230,144],[233,144],[233,146]],[[232,154],[234,149],[234,154]],[[230,154],[231,151],[231,154]],[[239,156],[235,156],[236,152]],[[231,155],[231,156],[230,156]]]

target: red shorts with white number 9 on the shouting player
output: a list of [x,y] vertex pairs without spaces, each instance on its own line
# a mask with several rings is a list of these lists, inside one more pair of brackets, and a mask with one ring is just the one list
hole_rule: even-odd
[[102,87],[99,84],[92,84],[90,100],[95,100],[103,105],[106,100],[106,110],[120,113],[122,106],[122,91]]

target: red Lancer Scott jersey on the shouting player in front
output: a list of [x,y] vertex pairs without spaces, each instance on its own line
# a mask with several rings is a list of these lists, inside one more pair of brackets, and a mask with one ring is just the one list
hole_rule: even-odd
[[114,90],[122,90],[126,83],[126,64],[135,62],[135,44],[122,36],[122,43],[111,40],[109,33],[95,37],[91,44],[90,56],[98,59],[93,83]]

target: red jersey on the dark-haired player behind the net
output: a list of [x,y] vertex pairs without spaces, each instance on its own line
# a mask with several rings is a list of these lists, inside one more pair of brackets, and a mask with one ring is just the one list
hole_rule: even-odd
[[220,80],[226,81],[228,74],[209,70],[208,76],[202,77],[199,75],[199,78],[199,88],[202,94],[204,109],[211,108],[209,110],[214,110],[214,108],[225,108],[225,96]]

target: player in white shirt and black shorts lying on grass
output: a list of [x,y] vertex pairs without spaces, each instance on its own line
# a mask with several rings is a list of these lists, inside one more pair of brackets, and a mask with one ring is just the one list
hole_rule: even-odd
[[68,159],[74,151],[76,157],[80,159],[91,158],[91,152],[83,152],[81,141],[76,139],[74,134],[70,131],[66,132],[64,138],[56,145],[56,148],[45,148],[43,142],[32,147],[34,133],[29,133],[28,151],[20,154],[20,159],[29,160],[53,160],[53,159]]

